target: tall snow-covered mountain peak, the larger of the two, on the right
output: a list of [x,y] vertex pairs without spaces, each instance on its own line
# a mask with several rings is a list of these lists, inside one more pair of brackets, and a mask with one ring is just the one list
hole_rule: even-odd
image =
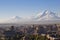
[[41,15],[38,15],[36,17],[36,20],[59,20],[60,17],[56,15],[56,13],[53,13],[51,11],[45,10],[41,13]]

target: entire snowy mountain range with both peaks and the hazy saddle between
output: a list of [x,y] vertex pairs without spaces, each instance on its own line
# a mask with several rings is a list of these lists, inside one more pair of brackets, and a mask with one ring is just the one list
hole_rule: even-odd
[[44,12],[36,15],[35,17],[19,17],[13,16],[6,20],[1,21],[0,23],[60,23],[60,17],[56,15],[56,13],[45,10]]

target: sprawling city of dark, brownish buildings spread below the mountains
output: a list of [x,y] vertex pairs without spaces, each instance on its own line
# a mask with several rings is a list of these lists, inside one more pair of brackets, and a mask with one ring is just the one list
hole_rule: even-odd
[[0,27],[0,40],[60,40],[60,24]]

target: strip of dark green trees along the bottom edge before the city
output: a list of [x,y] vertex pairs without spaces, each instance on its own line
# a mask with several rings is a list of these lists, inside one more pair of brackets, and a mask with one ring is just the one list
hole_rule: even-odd
[[3,39],[0,40],[48,40],[46,36],[41,36],[41,35],[19,35],[16,34],[15,36],[12,37],[4,37]]

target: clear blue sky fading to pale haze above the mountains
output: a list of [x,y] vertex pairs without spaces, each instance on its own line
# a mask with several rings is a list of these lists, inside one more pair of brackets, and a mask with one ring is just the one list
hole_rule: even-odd
[[0,0],[0,19],[32,16],[46,9],[60,13],[60,0]]

